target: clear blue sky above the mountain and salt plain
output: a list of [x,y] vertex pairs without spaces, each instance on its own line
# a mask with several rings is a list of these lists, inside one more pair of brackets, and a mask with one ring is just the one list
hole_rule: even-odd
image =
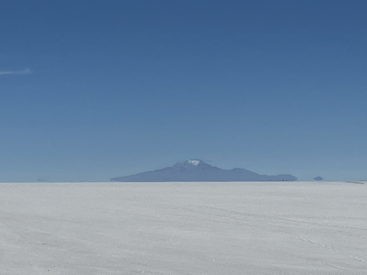
[[365,1],[4,1],[0,181],[190,158],[367,179],[366,14]]

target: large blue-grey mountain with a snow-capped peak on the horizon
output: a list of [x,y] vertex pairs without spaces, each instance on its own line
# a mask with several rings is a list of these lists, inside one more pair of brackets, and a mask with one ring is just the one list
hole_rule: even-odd
[[160,182],[160,181],[295,181],[292,175],[267,176],[250,170],[231,170],[211,166],[200,159],[191,159],[159,170],[131,176],[113,177],[111,181]]

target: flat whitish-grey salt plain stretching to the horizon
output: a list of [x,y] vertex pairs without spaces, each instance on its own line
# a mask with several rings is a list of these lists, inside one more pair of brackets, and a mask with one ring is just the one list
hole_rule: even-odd
[[367,274],[367,185],[2,183],[0,274]]

